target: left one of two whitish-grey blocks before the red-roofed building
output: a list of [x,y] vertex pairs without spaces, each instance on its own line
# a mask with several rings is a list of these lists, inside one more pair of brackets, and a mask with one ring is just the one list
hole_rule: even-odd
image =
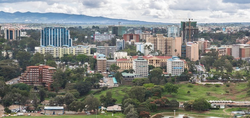
[[136,76],[147,77],[148,76],[148,61],[139,56],[133,60],[133,69]]

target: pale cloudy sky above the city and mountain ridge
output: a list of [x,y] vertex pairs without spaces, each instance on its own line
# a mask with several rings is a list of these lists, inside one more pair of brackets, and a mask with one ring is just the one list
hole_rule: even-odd
[[250,0],[0,0],[0,11],[57,12],[150,22],[250,22]]

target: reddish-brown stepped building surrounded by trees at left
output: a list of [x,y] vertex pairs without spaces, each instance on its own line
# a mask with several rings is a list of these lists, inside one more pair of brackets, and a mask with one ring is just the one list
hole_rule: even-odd
[[52,76],[55,71],[55,67],[46,65],[28,66],[20,77],[20,83],[33,86],[46,86],[49,88],[53,82]]

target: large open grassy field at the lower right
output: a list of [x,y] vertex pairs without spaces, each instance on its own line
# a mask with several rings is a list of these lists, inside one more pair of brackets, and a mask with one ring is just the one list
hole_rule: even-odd
[[[231,83],[229,87],[226,85],[198,85],[198,84],[179,84],[178,93],[169,95],[164,92],[162,96],[166,96],[169,99],[176,99],[177,101],[194,100],[199,97],[206,98],[208,100],[250,100],[250,97],[246,96],[247,83]],[[188,91],[190,93],[188,94]]]

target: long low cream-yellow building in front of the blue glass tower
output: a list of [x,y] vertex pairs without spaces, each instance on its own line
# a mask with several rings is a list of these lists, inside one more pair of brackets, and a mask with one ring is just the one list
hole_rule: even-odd
[[79,55],[86,54],[90,55],[90,48],[88,46],[78,45],[73,47],[54,47],[54,46],[46,46],[46,47],[35,47],[35,53],[46,54],[49,53],[53,55],[54,58],[61,58],[65,54]]

